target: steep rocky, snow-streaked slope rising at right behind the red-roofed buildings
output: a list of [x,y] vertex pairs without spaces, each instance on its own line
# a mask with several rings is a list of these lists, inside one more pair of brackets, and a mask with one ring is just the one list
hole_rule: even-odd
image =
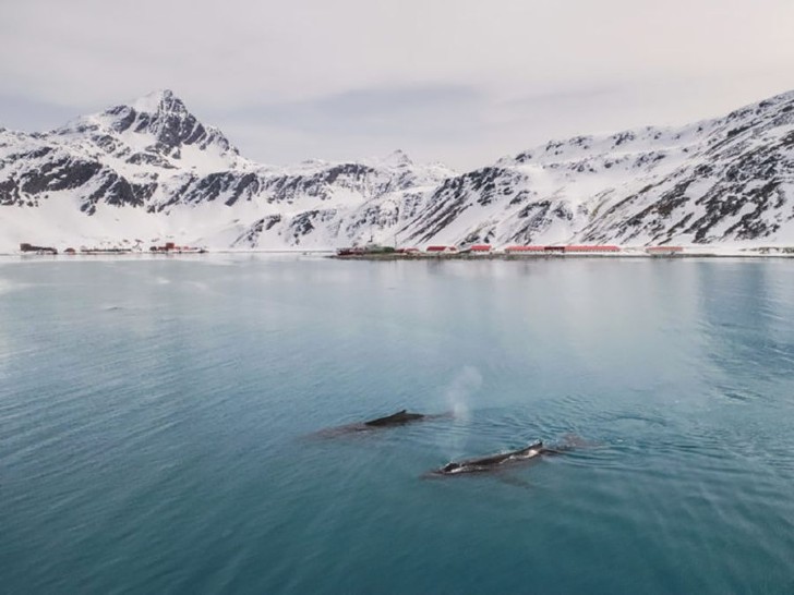
[[447,180],[417,242],[794,242],[794,94],[682,129],[552,142]]

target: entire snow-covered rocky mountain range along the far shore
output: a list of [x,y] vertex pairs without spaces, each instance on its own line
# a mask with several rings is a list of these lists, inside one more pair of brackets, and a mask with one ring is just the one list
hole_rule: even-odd
[[794,93],[681,129],[550,142],[456,174],[254,163],[171,92],[47,133],[0,129],[0,252],[39,245],[794,244]]

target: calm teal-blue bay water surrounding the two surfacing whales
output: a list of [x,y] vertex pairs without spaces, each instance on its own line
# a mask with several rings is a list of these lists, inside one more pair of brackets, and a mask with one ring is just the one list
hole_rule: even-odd
[[794,260],[8,259],[0,593],[791,594],[793,420]]

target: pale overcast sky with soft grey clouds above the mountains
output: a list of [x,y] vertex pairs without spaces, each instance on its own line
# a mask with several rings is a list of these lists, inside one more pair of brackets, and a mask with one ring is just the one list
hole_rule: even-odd
[[792,0],[2,0],[0,126],[171,89],[255,161],[458,170],[794,89]]

